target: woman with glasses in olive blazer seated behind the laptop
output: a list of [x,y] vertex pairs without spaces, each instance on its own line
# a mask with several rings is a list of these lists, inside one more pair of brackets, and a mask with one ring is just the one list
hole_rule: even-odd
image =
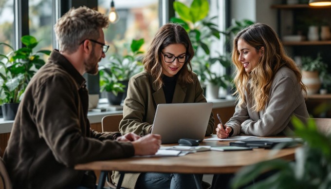
[[[193,56],[191,41],[181,25],[167,23],[158,30],[143,59],[145,70],[129,80],[123,119],[119,126],[123,134],[150,133],[158,104],[206,102],[198,76],[192,72]],[[214,124],[211,113],[205,135],[212,134]],[[117,183],[118,174],[113,176]],[[126,174],[122,186],[145,189],[173,189],[176,186],[196,188],[193,174],[175,173]]]

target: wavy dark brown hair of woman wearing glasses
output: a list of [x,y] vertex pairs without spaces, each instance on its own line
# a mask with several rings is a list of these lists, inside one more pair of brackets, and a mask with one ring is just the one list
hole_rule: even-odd
[[177,73],[177,81],[181,85],[193,83],[191,60],[194,56],[194,50],[191,40],[181,25],[167,23],[158,30],[143,59],[145,70],[149,72],[151,76],[156,78],[154,83],[156,83],[158,89],[163,86],[161,61],[163,55],[161,51],[171,44],[183,44],[186,47],[186,55],[189,56],[182,69]]

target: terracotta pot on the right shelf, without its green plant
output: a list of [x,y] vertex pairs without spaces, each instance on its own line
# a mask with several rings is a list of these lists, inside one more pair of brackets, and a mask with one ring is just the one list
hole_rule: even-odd
[[318,72],[314,71],[301,71],[302,82],[308,87],[307,95],[317,94],[320,87],[321,81],[318,76]]

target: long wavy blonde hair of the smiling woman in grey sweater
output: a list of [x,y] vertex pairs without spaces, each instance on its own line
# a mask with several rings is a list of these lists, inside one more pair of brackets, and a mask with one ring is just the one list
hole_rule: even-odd
[[[258,59],[256,67],[247,73],[239,61],[238,40],[244,40],[257,51],[264,48],[262,56]],[[302,91],[307,94],[307,87],[302,83],[301,73],[294,60],[285,53],[276,32],[268,25],[256,23],[241,30],[233,41],[232,62],[236,66],[234,83],[237,87],[234,94],[237,95],[239,105],[243,103],[244,92],[253,96],[255,101],[252,109],[256,112],[265,108],[269,101],[269,92],[275,74],[279,68],[286,66],[291,69],[300,83]],[[250,93],[248,93],[248,82],[250,81]]]

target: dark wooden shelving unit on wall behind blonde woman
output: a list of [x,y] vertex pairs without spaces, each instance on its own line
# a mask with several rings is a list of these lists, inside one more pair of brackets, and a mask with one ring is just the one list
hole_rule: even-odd
[[[313,24],[321,25],[327,21],[327,25],[331,27],[331,6],[327,7],[312,7],[308,4],[275,4],[271,6],[272,9],[277,9],[277,33],[282,39],[285,35],[297,34],[298,26],[306,26],[306,30],[302,31],[306,36],[308,31],[308,22],[310,19],[314,20]],[[287,27],[291,27],[292,34],[287,33]],[[286,47],[287,53],[291,57],[295,56],[310,56],[315,58],[318,53],[321,54],[323,61],[329,65],[329,73],[331,74],[331,40],[317,40],[317,41],[282,41]],[[330,93],[330,91],[329,91]],[[324,115],[314,113],[317,106],[328,103],[331,104],[331,94],[327,95],[309,95],[307,96],[306,105],[308,112],[314,117],[331,117],[329,110]]]

